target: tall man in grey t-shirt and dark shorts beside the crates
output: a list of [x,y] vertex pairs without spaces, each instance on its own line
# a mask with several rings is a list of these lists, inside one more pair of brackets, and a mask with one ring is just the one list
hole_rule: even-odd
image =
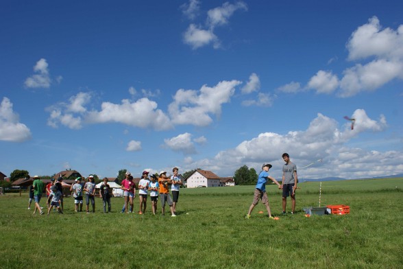
[[286,214],[287,196],[291,196],[291,214],[295,213],[295,190],[297,189],[297,165],[291,163],[288,153],[282,154],[286,162],[282,166],[282,214]]

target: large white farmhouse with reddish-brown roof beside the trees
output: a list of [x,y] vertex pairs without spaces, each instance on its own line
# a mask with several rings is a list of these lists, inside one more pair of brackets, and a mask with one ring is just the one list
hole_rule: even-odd
[[221,178],[211,171],[202,169],[197,169],[186,178],[188,188],[234,186],[233,183],[232,178]]

